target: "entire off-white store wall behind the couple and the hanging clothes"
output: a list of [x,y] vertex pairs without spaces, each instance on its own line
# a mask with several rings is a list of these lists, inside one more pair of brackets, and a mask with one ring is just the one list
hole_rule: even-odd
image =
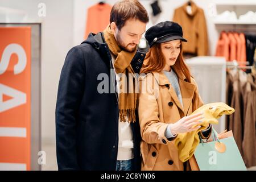
[[[30,22],[42,21],[42,89],[41,89],[41,122],[42,144],[55,144],[55,106],[57,86],[59,84],[60,71],[65,56],[70,48],[80,44],[84,40],[87,9],[99,1],[89,0],[1,0],[0,7],[9,7],[26,11]],[[117,0],[106,0],[106,3],[114,5]],[[175,8],[183,5],[187,0],[159,0],[162,13],[158,17],[152,17],[150,0],[141,0],[142,5],[150,14],[150,23],[171,20]],[[214,0],[194,0],[197,6],[204,9],[207,19],[208,39],[210,55],[214,55],[218,40],[218,31],[213,24],[211,16],[211,3]],[[38,5],[45,3],[46,17],[39,18]],[[242,7],[247,8],[247,7]],[[246,11],[245,11],[246,12]]]

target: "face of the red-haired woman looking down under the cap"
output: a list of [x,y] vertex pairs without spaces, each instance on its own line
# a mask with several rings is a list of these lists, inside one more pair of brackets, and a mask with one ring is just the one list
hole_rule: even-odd
[[166,59],[166,67],[175,64],[177,57],[180,54],[180,40],[171,40],[169,42],[161,43],[161,50]]

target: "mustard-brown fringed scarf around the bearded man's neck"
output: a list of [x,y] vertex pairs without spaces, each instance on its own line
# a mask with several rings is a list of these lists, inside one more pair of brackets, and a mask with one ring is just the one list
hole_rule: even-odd
[[[126,79],[122,76],[120,79],[121,92],[118,94],[119,98],[119,118],[121,122],[135,122],[135,109],[137,106],[137,78],[134,75],[131,67],[131,60],[135,56],[137,50],[134,52],[123,51],[117,44],[114,34],[110,31],[110,26],[104,30],[104,38],[110,51],[117,56],[114,62],[114,69],[116,73],[123,73]],[[130,75],[130,76],[129,76]],[[127,81],[126,81],[127,80]],[[130,83],[130,85],[129,85]],[[126,91],[126,92],[125,92]]]

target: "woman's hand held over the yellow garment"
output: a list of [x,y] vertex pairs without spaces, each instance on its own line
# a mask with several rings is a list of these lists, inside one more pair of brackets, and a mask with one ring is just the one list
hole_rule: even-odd
[[202,115],[203,113],[192,114],[181,118],[176,123],[172,123],[170,126],[171,133],[176,135],[179,133],[188,133],[200,129],[201,126],[193,126],[200,124],[200,120],[204,118]]

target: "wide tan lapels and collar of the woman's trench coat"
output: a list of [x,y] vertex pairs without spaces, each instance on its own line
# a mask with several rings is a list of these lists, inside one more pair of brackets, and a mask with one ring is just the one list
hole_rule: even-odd
[[169,88],[169,93],[174,100],[175,104],[179,107],[181,111],[183,111],[184,115],[187,115],[189,106],[192,103],[192,99],[194,96],[194,92],[196,90],[196,85],[187,82],[187,79],[185,75],[181,72],[181,69],[174,69],[172,68],[173,71],[177,74],[177,77],[179,79],[179,85],[180,85],[180,92],[182,96],[182,101],[183,101],[183,107],[181,106],[181,103],[179,101],[179,98],[177,97],[177,94],[175,90],[172,88],[170,81],[168,80],[167,76],[164,75],[164,72],[152,72],[156,80],[158,81],[158,84],[163,86],[167,86]]

